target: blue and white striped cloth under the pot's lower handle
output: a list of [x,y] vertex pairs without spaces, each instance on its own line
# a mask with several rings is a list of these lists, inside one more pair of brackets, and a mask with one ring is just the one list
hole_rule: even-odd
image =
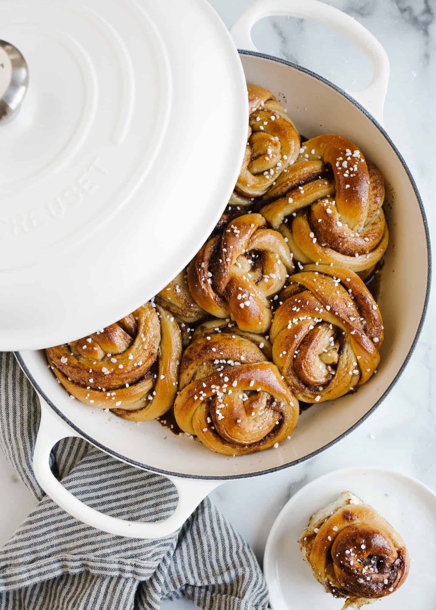
[[[0,551],[0,610],[151,610],[182,596],[213,610],[267,608],[255,556],[206,498],[183,528],[161,540],[106,534],[59,508],[38,486],[32,451],[36,393],[10,353],[0,353],[0,447],[38,498]],[[53,449],[53,471],[93,508],[131,520],[167,517],[176,490],[81,439]]]

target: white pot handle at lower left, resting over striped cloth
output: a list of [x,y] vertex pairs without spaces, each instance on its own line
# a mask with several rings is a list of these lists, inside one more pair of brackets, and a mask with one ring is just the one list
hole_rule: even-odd
[[49,456],[53,445],[58,440],[68,436],[81,435],[70,428],[62,418],[45,403],[40,397],[41,422],[38,429],[37,440],[34,450],[34,472],[42,489],[52,498],[64,511],[76,517],[79,521],[87,523],[96,529],[101,529],[115,536],[126,536],[131,538],[162,538],[169,536],[181,528],[186,519],[197,508],[198,504],[223,481],[205,481],[204,479],[188,479],[176,476],[167,476],[175,485],[179,500],[173,514],[158,523],[142,523],[137,521],[125,521],[110,517],[102,512],[96,511],[87,504],[82,503],[74,497],[54,477],[49,466]]

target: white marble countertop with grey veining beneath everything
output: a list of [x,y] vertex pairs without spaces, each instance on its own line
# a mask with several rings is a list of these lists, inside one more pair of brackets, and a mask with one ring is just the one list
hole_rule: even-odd
[[[227,26],[252,0],[211,0]],[[363,23],[385,47],[391,64],[385,127],[409,164],[436,228],[436,4],[433,0],[330,0]],[[368,60],[330,30],[302,20],[272,18],[258,24],[253,39],[261,51],[300,63],[347,88],[371,78]],[[340,45],[340,46],[338,46]],[[338,53],[337,49],[343,49]],[[335,51],[336,49],[336,51]],[[384,403],[357,430],[320,456],[257,479],[227,483],[211,494],[216,506],[247,539],[262,562],[267,535],[289,496],[318,475],[344,465],[379,465],[415,476],[436,489],[436,302],[431,301],[420,342],[404,374]],[[418,380],[418,382],[417,382]],[[346,459],[344,458],[346,456]],[[0,455],[0,544],[35,501]],[[255,507],[255,510],[253,510]],[[247,519],[250,508],[250,519]],[[401,600],[398,600],[402,610]],[[419,607],[419,600],[418,606]],[[192,608],[186,601],[162,608]],[[405,610],[405,608],[404,608]]]

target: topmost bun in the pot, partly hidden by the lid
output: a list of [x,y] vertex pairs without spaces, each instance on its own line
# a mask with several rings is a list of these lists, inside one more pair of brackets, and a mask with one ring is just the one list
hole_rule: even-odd
[[[234,187],[232,205],[250,205],[249,198],[260,197],[299,154],[300,136],[271,91],[247,85],[249,132],[241,173]],[[247,199],[242,199],[245,197]]]

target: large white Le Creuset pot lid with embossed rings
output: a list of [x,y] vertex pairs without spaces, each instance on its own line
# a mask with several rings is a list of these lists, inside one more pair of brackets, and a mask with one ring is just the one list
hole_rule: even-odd
[[0,350],[36,349],[120,319],[194,256],[238,178],[247,91],[206,0],[2,0],[0,38],[30,75],[0,120]]

